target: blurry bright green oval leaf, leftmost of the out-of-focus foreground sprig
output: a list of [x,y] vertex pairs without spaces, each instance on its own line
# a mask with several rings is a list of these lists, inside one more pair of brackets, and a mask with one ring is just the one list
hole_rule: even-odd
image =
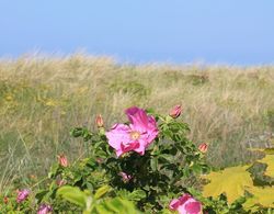
[[82,192],[79,188],[64,185],[57,191],[57,195],[62,196],[65,200],[81,206],[85,207],[87,194]]

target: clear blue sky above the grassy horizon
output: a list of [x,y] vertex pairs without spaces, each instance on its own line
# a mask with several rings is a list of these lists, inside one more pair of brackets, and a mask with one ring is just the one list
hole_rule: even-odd
[[84,49],[132,63],[274,63],[273,0],[0,0],[0,57]]

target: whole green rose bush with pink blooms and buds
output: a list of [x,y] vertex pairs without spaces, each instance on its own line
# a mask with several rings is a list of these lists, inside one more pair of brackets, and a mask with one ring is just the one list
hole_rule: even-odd
[[69,162],[59,155],[31,190],[3,195],[0,213],[244,213],[244,199],[228,203],[224,194],[202,195],[208,144],[187,139],[181,111],[176,105],[160,115],[133,106],[125,111],[128,121],[111,128],[102,115],[95,132],[73,128],[87,156]]

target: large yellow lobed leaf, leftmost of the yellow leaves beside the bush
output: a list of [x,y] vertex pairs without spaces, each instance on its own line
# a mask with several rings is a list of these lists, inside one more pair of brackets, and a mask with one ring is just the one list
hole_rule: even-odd
[[226,193],[228,203],[244,196],[246,187],[253,185],[250,173],[247,171],[248,168],[249,166],[231,167],[205,176],[210,182],[204,187],[203,195],[217,198]]

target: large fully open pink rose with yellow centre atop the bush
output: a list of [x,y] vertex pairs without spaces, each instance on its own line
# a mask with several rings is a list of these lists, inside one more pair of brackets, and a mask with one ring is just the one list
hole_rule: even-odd
[[158,135],[156,120],[137,106],[129,108],[125,112],[130,124],[115,124],[105,134],[109,144],[116,150],[118,157],[130,150],[144,155]]

